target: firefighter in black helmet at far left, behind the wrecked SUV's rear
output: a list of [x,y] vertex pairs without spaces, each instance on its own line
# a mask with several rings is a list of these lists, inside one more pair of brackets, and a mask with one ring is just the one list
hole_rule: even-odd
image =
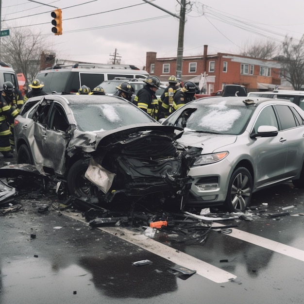
[[21,91],[18,88],[15,88],[14,84],[10,81],[6,81],[3,84],[1,96],[11,108],[10,114],[6,115],[6,121],[9,124],[12,133],[10,135],[10,144],[11,146],[15,146],[14,119],[20,113],[20,108],[23,105],[23,97]]

